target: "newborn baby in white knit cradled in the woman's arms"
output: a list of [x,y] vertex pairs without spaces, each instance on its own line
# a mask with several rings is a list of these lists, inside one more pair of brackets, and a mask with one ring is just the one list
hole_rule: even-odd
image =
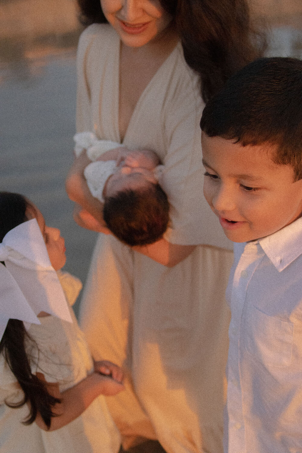
[[103,203],[103,218],[110,231],[129,246],[160,239],[168,226],[169,203],[158,184],[163,165],[157,154],[98,140],[91,132],[76,134],[74,140],[75,154],[86,149],[93,161],[84,176],[93,197]]

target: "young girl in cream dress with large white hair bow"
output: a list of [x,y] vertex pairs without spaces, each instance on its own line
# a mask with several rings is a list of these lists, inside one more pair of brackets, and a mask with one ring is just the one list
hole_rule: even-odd
[[93,362],[67,306],[81,283],[55,272],[66,261],[60,231],[22,195],[0,192],[0,242],[1,453],[116,453],[101,395],[123,390],[123,373]]

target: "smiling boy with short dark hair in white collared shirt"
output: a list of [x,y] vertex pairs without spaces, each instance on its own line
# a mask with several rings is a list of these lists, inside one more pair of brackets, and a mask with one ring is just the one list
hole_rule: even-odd
[[225,452],[302,452],[302,61],[244,67],[201,130],[204,194],[235,242]]

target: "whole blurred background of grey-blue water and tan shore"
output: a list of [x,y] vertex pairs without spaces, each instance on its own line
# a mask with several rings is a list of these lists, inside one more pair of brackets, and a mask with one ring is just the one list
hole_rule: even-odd
[[[301,0],[254,0],[251,8],[270,29],[268,55],[302,58]],[[96,235],[73,222],[64,189],[75,133],[77,15],[74,0],[0,0],[0,190],[26,195],[60,228],[65,269],[84,282]]]

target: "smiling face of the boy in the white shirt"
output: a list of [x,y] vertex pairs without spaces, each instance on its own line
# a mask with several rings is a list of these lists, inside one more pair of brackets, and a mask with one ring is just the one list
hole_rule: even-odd
[[271,145],[233,143],[201,134],[206,169],[203,192],[234,242],[268,236],[302,216],[302,180],[273,162]]

